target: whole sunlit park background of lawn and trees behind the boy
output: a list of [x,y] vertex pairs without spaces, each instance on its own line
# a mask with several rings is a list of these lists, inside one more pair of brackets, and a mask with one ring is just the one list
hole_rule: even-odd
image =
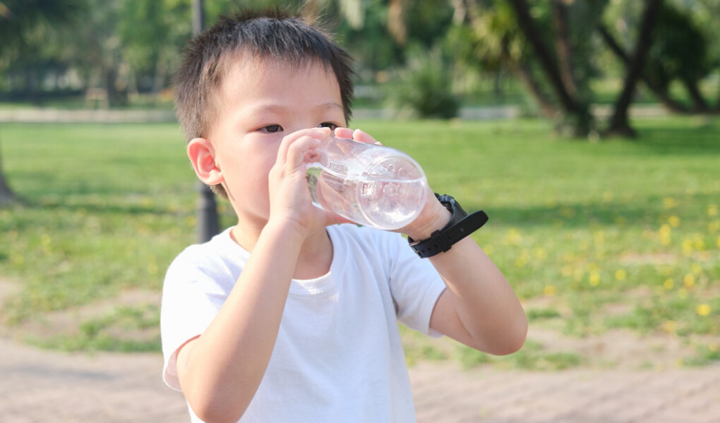
[[490,215],[473,237],[523,301],[526,345],[402,329],[411,366],[717,365],[718,0],[0,1],[4,338],[159,352],[164,271],[202,219],[171,86],[197,4],[206,24],[320,16],[356,58],[351,127]]

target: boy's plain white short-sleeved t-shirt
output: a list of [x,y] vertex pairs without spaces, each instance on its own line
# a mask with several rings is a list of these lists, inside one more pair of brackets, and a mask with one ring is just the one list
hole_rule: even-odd
[[[439,336],[430,317],[445,284],[398,234],[354,224],[327,230],[330,272],[292,280],[270,362],[240,422],[415,422],[397,321]],[[161,332],[171,388],[180,389],[177,349],[212,322],[249,257],[228,229],[170,265]]]

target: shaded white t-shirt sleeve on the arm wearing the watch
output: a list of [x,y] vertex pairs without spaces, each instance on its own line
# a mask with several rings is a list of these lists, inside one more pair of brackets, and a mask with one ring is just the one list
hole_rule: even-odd
[[430,263],[415,254],[399,234],[388,237],[390,291],[397,309],[397,320],[410,329],[431,337],[442,334],[430,328],[430,317],[445,283]]

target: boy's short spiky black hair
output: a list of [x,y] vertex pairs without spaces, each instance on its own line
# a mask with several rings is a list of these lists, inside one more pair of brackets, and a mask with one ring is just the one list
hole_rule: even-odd
[[[311,22],[279,9],[246,11],[220,17],[189,42],[175,76],[176,113],[186,140],[207,135],[217,114],[213,96],[231,65],[244,54],[298,66],[317,60],[338,79],[343,112],[349,121],[355,75],[352,59]],[[222,186],[213,187],[213,191],[227,197]]]

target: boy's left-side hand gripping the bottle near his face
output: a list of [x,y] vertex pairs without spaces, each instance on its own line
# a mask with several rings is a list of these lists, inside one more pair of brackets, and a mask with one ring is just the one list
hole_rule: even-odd
[[268,221],[292,224],[303,235],[346,219],[312,205],[307,188],[305,158],[330,135],[329,128],[302,129],[282,139],[276,162],[269,173]]

